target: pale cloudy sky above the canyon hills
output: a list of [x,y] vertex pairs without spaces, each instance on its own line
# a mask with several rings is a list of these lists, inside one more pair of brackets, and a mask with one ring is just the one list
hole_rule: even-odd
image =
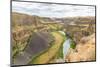
[[95,16],[94,6],[12,2],[12,11],[43,17]]

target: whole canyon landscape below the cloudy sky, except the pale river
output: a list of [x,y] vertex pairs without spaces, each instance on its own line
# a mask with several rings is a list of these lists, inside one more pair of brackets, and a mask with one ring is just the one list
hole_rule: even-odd
[[[95,60],[95,17],[49,18],[12,12],[11,31],[13,64]],[[71,40],[66,59],[63,59],[64,38]]]

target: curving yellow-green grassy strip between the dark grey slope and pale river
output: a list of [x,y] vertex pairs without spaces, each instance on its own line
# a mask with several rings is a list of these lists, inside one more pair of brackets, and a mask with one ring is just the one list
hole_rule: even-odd
[[59,32],[52,32],[52,35],[55,37],[55,41],[52,43],[53,45],[46,52],[33,58],[29,64],[45,64],[56,55],[62,45],[64,38]]

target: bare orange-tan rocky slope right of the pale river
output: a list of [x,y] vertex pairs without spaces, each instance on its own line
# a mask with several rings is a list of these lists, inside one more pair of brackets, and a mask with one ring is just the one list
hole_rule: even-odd
[[66,62],[95,61],[95,34],[83,37],[75,49],[70,49]]

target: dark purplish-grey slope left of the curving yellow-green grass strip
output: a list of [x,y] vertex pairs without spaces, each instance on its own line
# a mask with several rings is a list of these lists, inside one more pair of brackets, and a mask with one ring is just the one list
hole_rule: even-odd
[[45,32],[34,33],[25,50],[16,56],[14,64],[25,65],[31,60],[32,56],[46,50],[50,46],[50,37],[50,34]]

